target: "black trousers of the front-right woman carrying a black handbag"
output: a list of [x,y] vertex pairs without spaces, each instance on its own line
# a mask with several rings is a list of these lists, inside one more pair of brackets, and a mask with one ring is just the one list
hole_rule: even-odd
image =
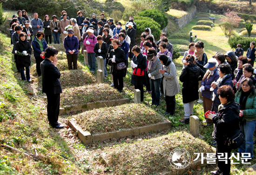
[[[223,159],[218,158],[220,156],[220,153],[223,153],[224,157],[225,153],[228,154],[227,156],[227,163],[223,161]],[[221,172],[223,175],[229,175],[230,174],[230,153],[231,149],[228,145],[225,144],[224,141],[216,141],[216,156],[217,156],[217,161],[218,161],[218,171]]]

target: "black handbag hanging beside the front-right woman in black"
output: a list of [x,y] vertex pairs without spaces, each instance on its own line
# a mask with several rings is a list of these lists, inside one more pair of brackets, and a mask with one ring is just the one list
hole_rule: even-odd
[[237,130],[232,137],[227,138],[227,142],[231,149],[237,149],[245,143],[245,137],[241,130]]

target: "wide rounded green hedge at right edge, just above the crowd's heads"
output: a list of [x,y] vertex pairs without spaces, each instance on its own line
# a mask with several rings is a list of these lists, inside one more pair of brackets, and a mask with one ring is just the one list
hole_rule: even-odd
[[243,50],[248,50],[248,48],[250,47],[250,42],[256,42],[256,38],[248,38],[248,37],[241,37],[241,36],[233,36],[233,37],[230,37],[229,38],[229,46],[232,48],[232,49],[236,49],[236,45],[237,44],[241,44],[242,45],[242,48]]

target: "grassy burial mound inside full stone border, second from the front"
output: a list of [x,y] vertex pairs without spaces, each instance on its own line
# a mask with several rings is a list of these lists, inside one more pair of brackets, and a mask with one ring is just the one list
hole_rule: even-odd
[[163,122],[163,117],[144,104],[125,104],[80,113],[74,117],[83,131],[93,134],[121,131]]

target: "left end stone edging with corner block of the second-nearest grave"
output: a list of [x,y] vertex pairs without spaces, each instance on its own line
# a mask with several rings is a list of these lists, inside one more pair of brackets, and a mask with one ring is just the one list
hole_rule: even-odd
[[88,131],[83,131],[79,125],[76,125],[74,120],[68,120],[68,125],[77,131],[78,137],[84,144],[91,144],[93,142],[92,135]]

